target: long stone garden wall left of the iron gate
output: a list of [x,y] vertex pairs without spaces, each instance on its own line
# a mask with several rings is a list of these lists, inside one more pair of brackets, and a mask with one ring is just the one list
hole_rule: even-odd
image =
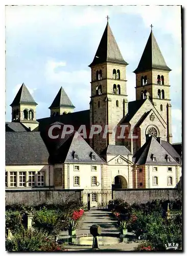
[[59,190],[6,190],[6,205],[8,204],[55,204],[66,199],[82,199],[83,189],[59,189]]

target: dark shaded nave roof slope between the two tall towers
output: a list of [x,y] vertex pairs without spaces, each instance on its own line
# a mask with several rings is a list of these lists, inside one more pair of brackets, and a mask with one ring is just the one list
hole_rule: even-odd
[[136,112],[141,108],[146,99],[134,100],[128,102],[128,113],[123,120],[123,123],[128,123],[132,119],[132,117],[136,114]]

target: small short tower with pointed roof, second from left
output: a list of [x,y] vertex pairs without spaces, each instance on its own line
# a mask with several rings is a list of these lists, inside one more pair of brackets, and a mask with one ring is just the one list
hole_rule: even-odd
[[61,87],[49,109],[51,110],[51,116],[58,116],[72,113],[75,106]]

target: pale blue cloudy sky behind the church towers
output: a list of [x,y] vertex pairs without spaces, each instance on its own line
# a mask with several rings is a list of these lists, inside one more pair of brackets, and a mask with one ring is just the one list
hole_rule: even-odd
[[89,109],[88,65],[109,24],[127,66],[128,101],[135,100],[135,74],[153,25],[170,69],[173,142],[181,142],[180,6],[6,6],[6,121],[24,82],[37,105],[37,119],[62,86],[76,106]]

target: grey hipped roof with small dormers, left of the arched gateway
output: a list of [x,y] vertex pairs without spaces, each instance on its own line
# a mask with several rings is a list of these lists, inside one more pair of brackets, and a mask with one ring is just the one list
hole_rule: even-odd
[[[74,154],[78,155],[78,159],[74,159]],[[92,155],[96,156],[96,160],[91,159]],[[58,149],[55,154],[55,162],[66,163],[105,163],[101,157],[93,151],[88,143],[77,133],[74,132]]]

